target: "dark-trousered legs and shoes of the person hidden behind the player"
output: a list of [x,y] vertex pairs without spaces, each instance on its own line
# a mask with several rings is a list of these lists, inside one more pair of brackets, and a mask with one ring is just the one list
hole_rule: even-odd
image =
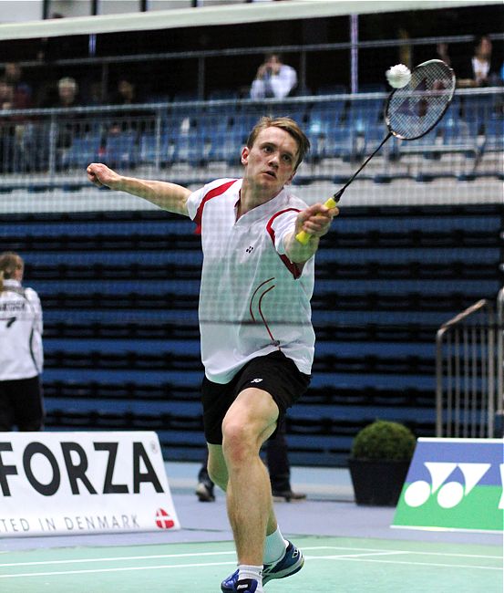
[[[306,494],[295,493],[291,487],[291,465],[284,421],[279,424],[276,436],[268,439],[266,447],[266,463],[270,472],[273,500],[287,503],[304,500]],[[214,484],[208,473],[207,463],[208,453],[205,455],[205,460],[198,473],[198,485],[196,486],[196,495],[201,503],[211,503],[215,500]]]

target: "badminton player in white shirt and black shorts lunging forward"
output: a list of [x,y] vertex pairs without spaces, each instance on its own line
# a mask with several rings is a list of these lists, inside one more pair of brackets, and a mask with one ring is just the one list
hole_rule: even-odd
[[[201,230],[203,424],[211,479],[227,492],[238,570],[224,592],[263,593],[262,583],[303,567],[283,538],[259,455],[310,382],[314,254],[337,208],[307,206],[287,192],[310,142],[289,118],[262,118],[242,148],[242,179],[191,192],[176,183],[87,167],[98,187],[138,195]],[[296,239],[301,231],[306,244]],[[273,282],[274,281],[274,282]]]

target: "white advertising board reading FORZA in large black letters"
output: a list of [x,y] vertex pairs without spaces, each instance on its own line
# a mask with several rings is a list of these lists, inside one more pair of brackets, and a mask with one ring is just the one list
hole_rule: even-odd
[[0,432],[0,537],[180,529],[155,432]]

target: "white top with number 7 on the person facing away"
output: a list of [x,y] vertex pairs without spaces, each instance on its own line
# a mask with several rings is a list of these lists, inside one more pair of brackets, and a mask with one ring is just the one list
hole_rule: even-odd
[[0,293],[0,381],[42,372],[42,307],[36,291],[4,280]]

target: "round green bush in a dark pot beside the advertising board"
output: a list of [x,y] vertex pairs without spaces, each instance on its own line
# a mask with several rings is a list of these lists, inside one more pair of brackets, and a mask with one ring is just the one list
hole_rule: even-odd
[[396,506],[416,442],[399,422],[377,420],[357,432],[348,460],[357,505]]

